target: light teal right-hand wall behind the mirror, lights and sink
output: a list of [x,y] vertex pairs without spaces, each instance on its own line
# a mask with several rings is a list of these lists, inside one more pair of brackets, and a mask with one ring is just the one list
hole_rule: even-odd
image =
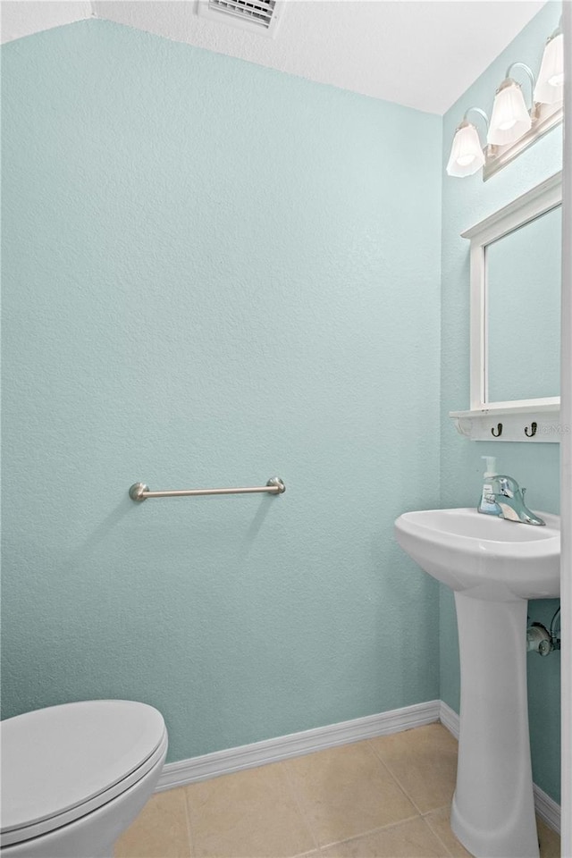
[[[480,173],[459,180],[444,174],[450,140],[470,106],[491,114],[494,89],[509,63],[540,65],[544,41],[558,25],[559,4],[551,3],[450,108],[443,120],[442,188],[442,506],[473,506],[484,471],[481,456],[497,456],[497,465],[528,489],[532,509],[559,511],[559,445],[471,442],[459,435],[449,412],[469,407],[468,241],[461,231],[533,188],[562,165],[561,128],[552,130],[516,161],[483,182]],[[524,85],[526,88],[526,84]],[[556,333],[558,335],[558,332]],[[441,697],[458,711],[458,643],[452,593],[440,594]],[[533,620],[550,623],[558,601],[531,602]],[[493,645],[493,643],[492,643]],[[529,715],[534,781],[559,801],[559,653],[528,656]]]

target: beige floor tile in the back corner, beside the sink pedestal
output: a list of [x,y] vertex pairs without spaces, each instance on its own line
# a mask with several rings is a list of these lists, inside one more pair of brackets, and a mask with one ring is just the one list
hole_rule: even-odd
[[457,778],[457,740],[442,724],[369,741],[420,812],[450,803]]

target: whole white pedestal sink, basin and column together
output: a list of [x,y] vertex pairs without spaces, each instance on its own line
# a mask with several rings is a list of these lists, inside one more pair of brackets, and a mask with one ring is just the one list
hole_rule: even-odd
[[461,664],[451,828],[476,858],[538,858],[526,699],[528,599],[559,596],[560,521],[406,512],[401,548],[455,591]]

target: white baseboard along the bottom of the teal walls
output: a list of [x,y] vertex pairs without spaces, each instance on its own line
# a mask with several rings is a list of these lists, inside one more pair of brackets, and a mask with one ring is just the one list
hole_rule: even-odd
[[[366,715],[340,724],[327,727],[317,727],[304,730],[301,733],[291,733],[289,736],[278,736],[275,739],[265,739],[263,742],[243,744],[238,748],[226,751],[205,753],[200,757],[189,760],[168,762],[161,773],[156,792],[173,787],[184,787],[199,780],[216,778],[219,775],[229,775],[232,771],[254,769],[269,762],[288,760],[305,753],[324,751],[340,744],[359,742],[374,736],[387,736],[390,733],[400,733],[441,721],[456,739],[458,739],[458,714],[442,700],[430,700],[426,703],[416,703],[414,706],[404,706],[378,715]],[[534,784],[534,805],[536,812],[547,825],[555,831],[560,831],[560,807],[550,795]]]

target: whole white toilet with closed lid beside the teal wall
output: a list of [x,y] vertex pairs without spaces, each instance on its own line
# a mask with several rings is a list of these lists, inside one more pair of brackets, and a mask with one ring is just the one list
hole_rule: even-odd
[[92,700],[26,712],[2,731],[3,858],[110,858],[167,753],[146,703]]

